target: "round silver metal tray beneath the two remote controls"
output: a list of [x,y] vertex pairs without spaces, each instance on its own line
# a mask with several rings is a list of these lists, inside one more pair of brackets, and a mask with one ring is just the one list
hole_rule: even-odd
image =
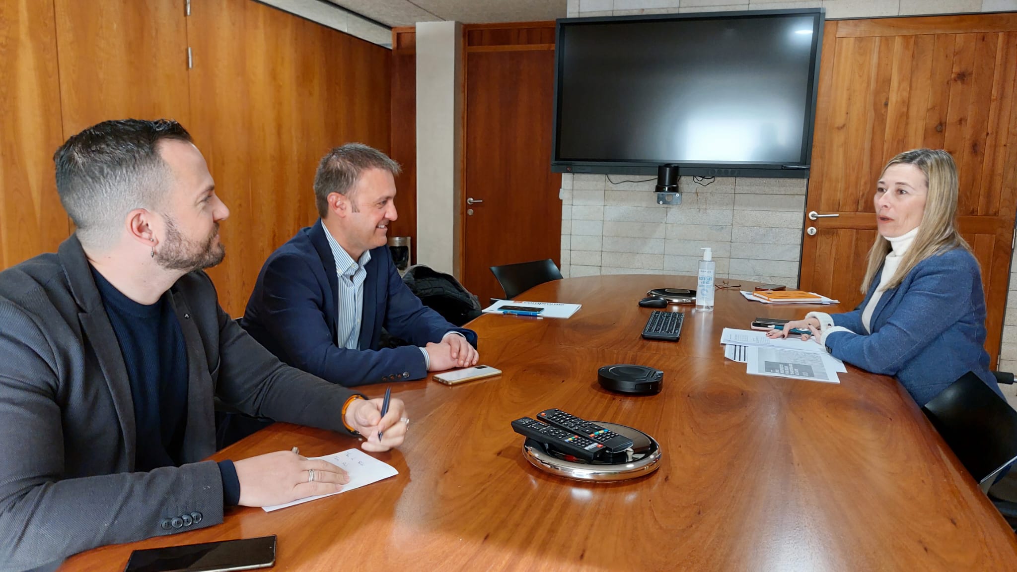
[[633,440],[633,447],[625,451],[624,458],[611,463],[566,461],[532,439],[523,442],[523,456],[544,472],[578,481],[626,481],[650,474],[660,468],[660,444],[653,437],[624,425],[602,421],[593,423]]

